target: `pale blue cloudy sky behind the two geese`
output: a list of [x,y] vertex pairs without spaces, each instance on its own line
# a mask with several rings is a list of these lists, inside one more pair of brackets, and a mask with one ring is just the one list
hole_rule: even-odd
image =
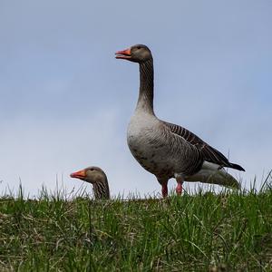
[[160,193],[126,143],[139,68],[114,53],[133,44],[153,54],[156,115],[260,186],[272,169],[271,14],[270,0],[0,0],[0,194],[20,182],[30,197],[56,183],[92,191],[69,177],[91,165],[112,196]]

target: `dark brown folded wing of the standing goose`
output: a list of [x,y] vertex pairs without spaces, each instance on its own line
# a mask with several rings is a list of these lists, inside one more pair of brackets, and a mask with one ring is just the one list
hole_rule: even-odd
[[222,167],[230,167],[237,170],[244,170],[238,164],[229,162],[228,159],[221,152],[211,147],[205,141],[202,141],[196,134],[186,130],[185,128],[180,127],[179,125],[166,121],[163,121],[163,123],[172,133],[179,135],[185,141],[197,147],[204,160],[219,164]]

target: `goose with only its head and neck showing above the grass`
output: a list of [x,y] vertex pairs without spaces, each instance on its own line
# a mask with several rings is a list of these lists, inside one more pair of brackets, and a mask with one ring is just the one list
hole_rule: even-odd
[[92,183],[95,199],[110,199],[108,179],[101,168],[91,166],[72,173],[70,177]]

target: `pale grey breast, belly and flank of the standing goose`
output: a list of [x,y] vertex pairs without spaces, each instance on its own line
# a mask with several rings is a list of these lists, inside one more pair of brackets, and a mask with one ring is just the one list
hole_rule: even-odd
[[[174,177],[175,173],[190,174],[191,161],[199,160],[195,147],[170,133],[167,127],[151,114],[139,112],[131,117],[127,141],[133,157],[141,166],[158,176]],[[199,170],[201,165],[196,167]]]

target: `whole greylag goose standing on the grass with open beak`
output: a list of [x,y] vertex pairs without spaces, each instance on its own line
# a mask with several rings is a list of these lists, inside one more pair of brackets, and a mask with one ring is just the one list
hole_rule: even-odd
[[241,166],[229,162],[194,133],[156,117],[151,50],[146,45],[136,44],[115,54],[117,59],[140,65],[139,98],[129,123],[127,141],[133,157],[160,182],[162,196],[168,195],[167,184],[171,178],[178,182],[178,194],[181,194],[185,180],[238,188],[238,181],[223,167],[244,171]]

